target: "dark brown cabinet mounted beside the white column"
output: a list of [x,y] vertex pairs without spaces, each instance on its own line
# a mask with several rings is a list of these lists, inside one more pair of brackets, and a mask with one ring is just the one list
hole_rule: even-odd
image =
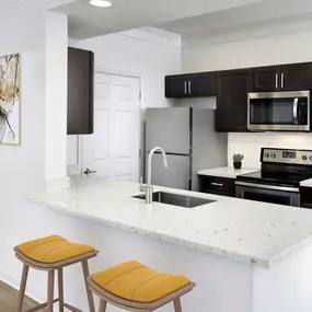
[[67,134],[93,134],[94,55],[68,48]]

